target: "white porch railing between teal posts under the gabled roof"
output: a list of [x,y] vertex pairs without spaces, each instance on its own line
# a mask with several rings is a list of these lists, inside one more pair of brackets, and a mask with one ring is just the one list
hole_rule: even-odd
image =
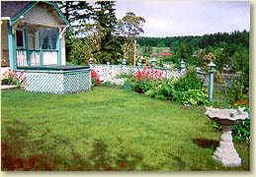
[[[27,52],[28,55],[27,55]],[[37,50],[16,50],[17,67],[25,66],[40,66],[40,65],[56,65],[57,64],[57,50],[43,49]]]

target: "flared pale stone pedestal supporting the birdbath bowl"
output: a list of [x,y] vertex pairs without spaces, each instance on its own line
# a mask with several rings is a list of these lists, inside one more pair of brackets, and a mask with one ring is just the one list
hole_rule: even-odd
[[219,147],[213,153],[213,159],[220,161],[224,166],[235,167],[241,165],[239,157],[232,142],[232,131],[229,126],[221,126],[222,135],[219,142]]

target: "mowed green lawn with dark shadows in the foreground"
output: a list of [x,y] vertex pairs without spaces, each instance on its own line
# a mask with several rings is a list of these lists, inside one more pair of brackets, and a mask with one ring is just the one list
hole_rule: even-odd
[[220,132],[203,108],[133,91],[95,88],[77,94],[4,90],[2,170],[214,171],[250,169],[213,160]]

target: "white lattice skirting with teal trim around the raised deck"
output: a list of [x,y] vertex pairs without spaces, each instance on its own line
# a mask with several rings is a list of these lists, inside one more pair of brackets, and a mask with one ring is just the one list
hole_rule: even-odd
[[43,93],[74,93],[91,88],[91,70],[25,71],[24,89]]

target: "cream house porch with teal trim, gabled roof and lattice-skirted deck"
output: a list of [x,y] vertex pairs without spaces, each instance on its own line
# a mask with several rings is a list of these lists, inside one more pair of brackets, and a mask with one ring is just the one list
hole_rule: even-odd
[[25,72],[29,91],[90,89],[88,66],[66,66],[64,31],[68,26],[54,1],[2,1],[2,66]]

